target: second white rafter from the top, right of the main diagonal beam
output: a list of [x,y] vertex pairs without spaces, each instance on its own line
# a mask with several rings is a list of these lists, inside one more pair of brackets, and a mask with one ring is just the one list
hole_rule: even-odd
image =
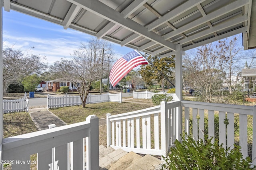
[[185,2],[184,4],[178,6],[177,8],[174,8],[172,11],[168,12],[166,15],[162,16],[161,18],[157,19],[156,21],[149,24],[148,31],[152,31],[156,27],[162,25],[163,23],[166,23],[167,21],[172,20],[173,18],[179,16],[180,14],[183,14],[185,11],[190,10],[191,8],[194,8],[198,4],[204,2],[205,0],[189,0]]

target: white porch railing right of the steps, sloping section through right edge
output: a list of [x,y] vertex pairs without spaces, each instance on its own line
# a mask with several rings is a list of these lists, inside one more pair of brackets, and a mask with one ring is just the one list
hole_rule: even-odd
[[[182,111],[184,109],[184,111]],[[159,118],[159,113],[160,117]],[[184,113],[184,114],[183,114]],[[190,133],[195,140],[204,140],[204,117],[208,118],[209,138],[214,136],[214,114],[219,117],[219,141],[223,146],[234,147],[235,114],[239,116],[239,145],[244,157],[248,156],[248,142],[252,142],[252,160],[256,165],[256,106],[238,106],[203,102],[161,102],[160,106],[119,115],[107,114],[107,145],[136,153],[166,156],[168,147],[182,132]],[[252,116],[252,136],[248,140],[248,115]],[[182,123],[184,120],[184,123]],[[199,123],[198,123],[199,122]],[[226,137],[226,124],[227,137]],[[228,123],[227,123],[228,122]],[[159,126],[160,125],[160,126]],[[126,132],[127,131],[127,132]],[[160,133],[159,133],[160,132]],[[161,134],[161,135],[159,135]],[[142,137],[142,141],[141,141]],[[154,141],[154,146],[151,143]]]

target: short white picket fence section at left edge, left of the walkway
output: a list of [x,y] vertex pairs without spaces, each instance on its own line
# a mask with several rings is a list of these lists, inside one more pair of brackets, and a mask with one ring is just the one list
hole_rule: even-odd
[[3,112],[12,113],[12,112],[28,112],[28,98],[25,93],[23,98],[14,99],[14,100],[3,100]]

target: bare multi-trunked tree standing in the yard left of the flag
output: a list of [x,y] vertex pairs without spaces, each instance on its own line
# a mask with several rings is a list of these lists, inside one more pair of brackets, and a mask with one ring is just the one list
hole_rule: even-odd
[[[102,69],[102,49],[104,48],[104,61]],[[86,107],[86,98],[92,82],[100,79],[101,71],[106,72],[108,59],[112,59],[112,43],[96,38],[74,51],[72,59],[61,59],[51,66],[59,78],[71,81],[78,89],[82,106]]]

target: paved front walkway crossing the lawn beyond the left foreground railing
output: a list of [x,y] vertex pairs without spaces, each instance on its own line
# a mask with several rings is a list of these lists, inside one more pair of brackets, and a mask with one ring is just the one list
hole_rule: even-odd
[[62,119],[48,111],[47,108],[30,109],[29,115],[39,131],[49,129],[48,125],[55,124],[56,127],[67,125]]

